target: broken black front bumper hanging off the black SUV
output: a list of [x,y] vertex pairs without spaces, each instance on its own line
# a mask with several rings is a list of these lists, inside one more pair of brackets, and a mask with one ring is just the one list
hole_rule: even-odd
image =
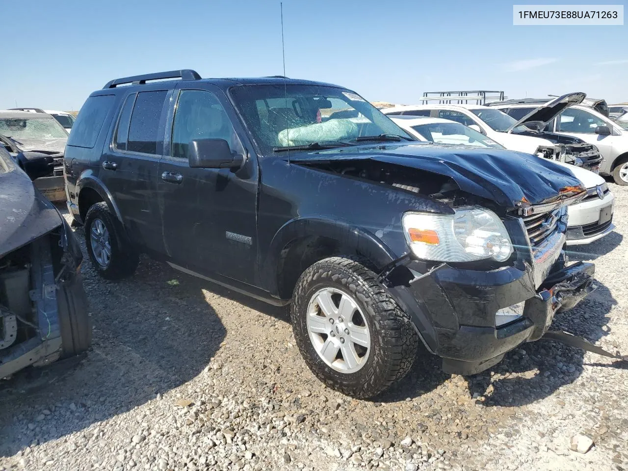
[[[412,271],[413,262],[407,268]],[[535,289],[527,264],[493,271],[442,264],[406,283],[391,272],[387,289],[409,313],[426,347],[443,358],[445,372],[475,374],[517,345],[541,338],[557,311],[572,308],[595,289],[594,272],[590,263],[565,268],[561,258]],[[498,310],[522,302],[521,318],[496,327]]]

